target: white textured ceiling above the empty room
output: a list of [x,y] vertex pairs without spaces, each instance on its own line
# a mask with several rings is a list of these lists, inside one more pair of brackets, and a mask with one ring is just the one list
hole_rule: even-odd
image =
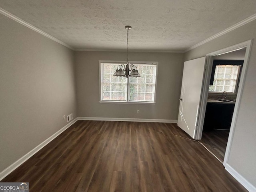
[[256,14],[256,0],[0,0],[0,7],[75,49],[172,51]]

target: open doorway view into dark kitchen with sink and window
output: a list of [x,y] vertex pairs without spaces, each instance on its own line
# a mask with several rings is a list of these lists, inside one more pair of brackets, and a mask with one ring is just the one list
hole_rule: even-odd
[[202,139],[199,141],[223,163],[246,48],[213,56]]

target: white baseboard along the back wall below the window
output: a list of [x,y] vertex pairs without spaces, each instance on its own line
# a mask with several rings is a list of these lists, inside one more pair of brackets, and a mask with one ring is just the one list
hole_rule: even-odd
[[109,117],[78,117],[78,120],[131,121],[131,122],[156,122],[156,123],[177,123],[178,122],[178,120],[169,120],[169,119],[137,119],[137,118],[109,118]]

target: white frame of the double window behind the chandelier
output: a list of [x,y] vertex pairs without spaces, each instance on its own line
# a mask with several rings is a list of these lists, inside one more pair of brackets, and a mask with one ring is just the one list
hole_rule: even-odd
[[[99,60],[99,85],[100,85],[100,103],[115,103],[115,104],[156,104],[156,85],[157,85],[157,74],[158,74],[158,62],[156,61],[129,61],[130,64],[154,64],[156,65],[156,83],[155,83],[155,91],[154,91],[154,101],[130,101],[129,96],[130,96],[130,88],[129,88],[129,78],[127,79],[127,100],[126,101],[107,101],[107,100],[102,100],[102,79],[103,79],[103,73],[102,73],[102,68],[101,68],[101,63],[123,63],[126,65],[126,61],[111,61],[111,60]],[[139,71],[140,72],[140,71]],[[114,74],[114,71],[113,71]],[[140,78],[140,77],[138,77]]]

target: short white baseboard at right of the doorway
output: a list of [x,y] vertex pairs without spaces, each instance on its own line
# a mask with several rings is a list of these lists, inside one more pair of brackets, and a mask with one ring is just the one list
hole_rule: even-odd
[[240,175],[234,168],[229,164],[225,164],[225,169],[236,179],[242,186],[244,186],[249,192],[256,192],[256,187],[253,186],[248,180],[246,180],[242,175]]

